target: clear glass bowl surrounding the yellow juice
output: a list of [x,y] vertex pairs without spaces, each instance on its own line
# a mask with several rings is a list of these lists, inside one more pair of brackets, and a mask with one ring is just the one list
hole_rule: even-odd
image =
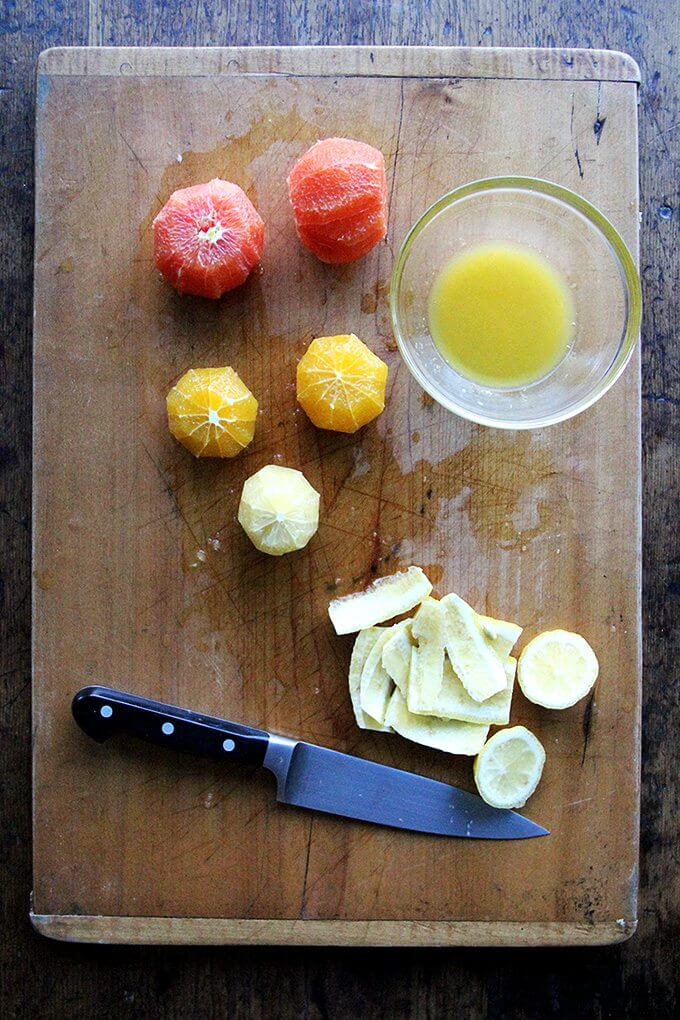
[[[427,300],[439,269],[470,247],[521,245],[566,280],[573,337],[542,378],[492,388],[447,362],[430,336]],[[539,428],[585,410],[617,380],[640,328],[640,280],[610,221],[585,199],[533,177],[489,177],[440,198],[409,232],[391,278],[395,336],[410,371],[439,404],[495,428]]]

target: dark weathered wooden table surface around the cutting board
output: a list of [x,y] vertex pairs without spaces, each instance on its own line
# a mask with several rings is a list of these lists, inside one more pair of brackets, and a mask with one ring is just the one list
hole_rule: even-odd
[[[0,1013],[10,1017],[673,1015],[680,967],[680,258],[674,0],[4,0],[0,6]],[[55,45],[592,46],[638,61],[644,459],[640,925],[612,949],[118,949],[34,934],[31,321],[34,72]],[[675,441],[675,442],[674,442]],[[105,838],[105,834],[102,836]]]

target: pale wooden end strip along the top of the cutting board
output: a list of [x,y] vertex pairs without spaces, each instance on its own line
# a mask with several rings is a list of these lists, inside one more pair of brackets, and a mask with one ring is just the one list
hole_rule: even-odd
[[38,73],[298,74],[530,79],[639,85],[633,57],[621,50],[488,46],[63,46],[44,50]]

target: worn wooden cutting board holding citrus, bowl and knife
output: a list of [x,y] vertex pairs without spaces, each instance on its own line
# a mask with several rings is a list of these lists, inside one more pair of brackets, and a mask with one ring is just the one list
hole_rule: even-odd
[[[640,719],[640,391],[634,357],[596,407],[535,432],[477,427],[401,364],[396,251],[437,196],[523,173],[583,194],[637,249],[638,70],[626,56],[493,49],[53,50],[39,66],[35,334],[33,922],[98,941],[595,944],[635,928]],[[324,266],[298,244],[285,174],[319,137],[379,146],[388,242]],[[263,271],[179,298],[150,224],[224,176],[267,223]],[[354,330],[389,364],[354,437],[297,410],[309,341]],[[261,405],[232,462],[195,461],[164,398],[231,364]],[[244,479],[302,468],[321,525],[269,559],[241,531]],[[527,812],[544,839],[477,843],[276,806],[265,772],[98,746],[70,718],[97,681],[470,789],[471,763],[359,731],[352,640],[328,600],[422,565],[438,594],[582,632],[592,698],[513,720],[547,751]]]

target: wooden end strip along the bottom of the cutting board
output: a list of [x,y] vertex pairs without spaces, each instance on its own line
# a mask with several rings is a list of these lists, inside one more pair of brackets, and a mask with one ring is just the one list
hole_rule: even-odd
[[66,942],[127,946],[542,947],[611,946],[637,918],[561,921],[343,921],[36,914],[34,929]]

